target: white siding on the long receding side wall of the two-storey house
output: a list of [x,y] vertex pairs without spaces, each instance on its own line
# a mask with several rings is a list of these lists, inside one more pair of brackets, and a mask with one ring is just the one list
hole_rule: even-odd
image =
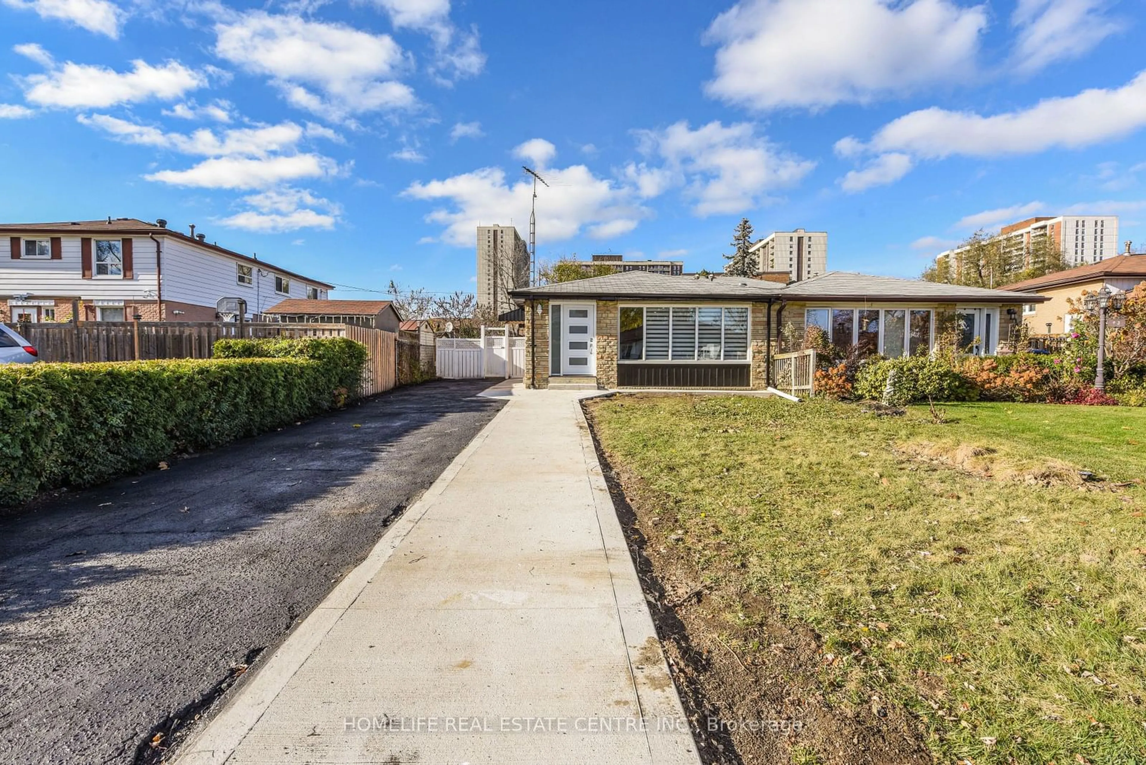
[[[285,275],[269,264],[253,264],[231,258],[213,250],[195,247],[188,242],[167,239],[163,255],[163,298],[214,306],[220,297],[241,297],[246,300],[251,313],[259,313],[286,299],[286,295],[275,292],[275,275]],[[240,284],[236,265],[252,266],[253,284]],[[290,279],[289,297],[306,297],[307,282]],[[320,297],[325,289],[320,288]]]

